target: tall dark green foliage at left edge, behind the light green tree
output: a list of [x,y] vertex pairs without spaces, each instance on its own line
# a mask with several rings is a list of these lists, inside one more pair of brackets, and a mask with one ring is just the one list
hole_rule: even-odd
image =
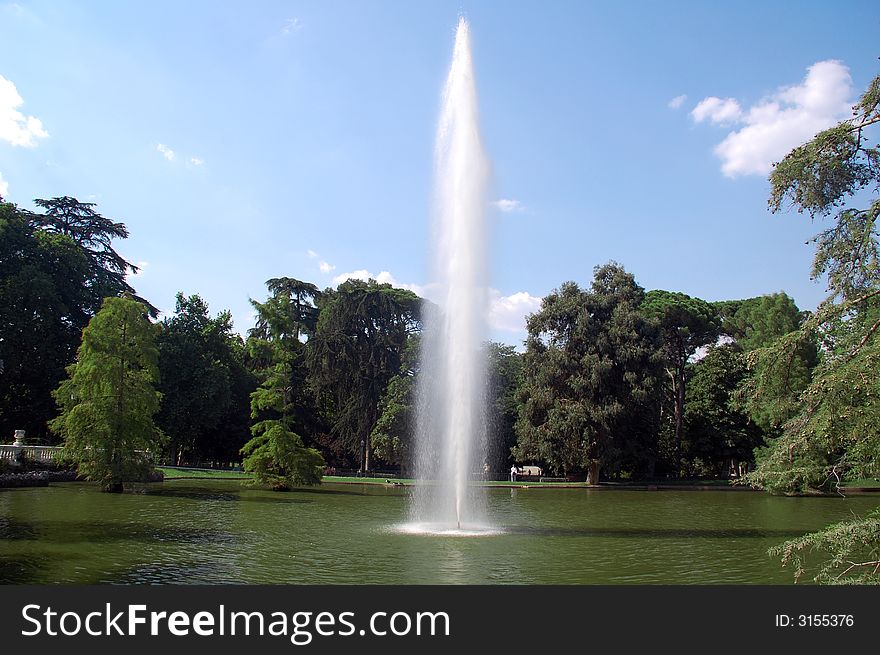
[[49,439],[52,391],[105,296],[131,292],[136,270],[112,248],[127,231],[73,198],[37,200],[45,214],[0,202],[0,434]]

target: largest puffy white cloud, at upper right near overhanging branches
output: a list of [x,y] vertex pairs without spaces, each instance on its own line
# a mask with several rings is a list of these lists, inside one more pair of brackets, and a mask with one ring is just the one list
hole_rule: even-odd
[[[747,111],[740,110],[735,117],[729,109],[730,120],[742,127],[730,132],[715,147],[722,172],[728,177],[767,175],[773,163],[781,160],[792,148],[848,118],[851,96],[849,69],[839,61],[820,61],[807,69],[800,84],[781,87]],[[694,120],[700,122],[709,118],[712,122],[722,122],[716,117],[726,114],[717,103],[710,102],[715,100],[718,98],[706,98],[700,102],[691,112]],[[732,102],[739,107],[739,103],[732,99],[720,102]]]

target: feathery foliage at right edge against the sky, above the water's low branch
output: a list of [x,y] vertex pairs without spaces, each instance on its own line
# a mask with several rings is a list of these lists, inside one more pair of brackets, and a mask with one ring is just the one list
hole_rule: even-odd
[[[876,149],[865,144],[867,126],[880,121],[872,95],[876,87],[877,80],[856,106],[854,119],[792,151],[771,175],[772,208],[787,198],[812,215],[837,212],[835,225],[817,242],[815,268],[829,273],[828,299],[796,332],[758,351],[763,362],[784,368],[804,343],[822,340],[823,361],[800,395],[797,412],[782,436],[759,453],[750,477],[773,491],[827,488],[842,473],[869,471],[880,461],[876,225],[861,228],[854,243],[848,225],[859,210],[840,209],[856,191],[880,185]],[[772,397],[768,386],[758,376],[752,397]]]

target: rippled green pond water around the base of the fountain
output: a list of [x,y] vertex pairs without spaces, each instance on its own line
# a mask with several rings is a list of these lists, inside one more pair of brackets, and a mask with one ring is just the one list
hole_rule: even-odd
[[406,534],[405,488],[0,490],[2,583],[791,584],[767,548],[876,498],[487,489],[501,534]]

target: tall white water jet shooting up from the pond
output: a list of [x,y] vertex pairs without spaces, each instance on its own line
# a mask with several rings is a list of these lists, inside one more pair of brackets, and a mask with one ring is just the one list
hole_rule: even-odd
[[415,453],[422,481],[413,524],[425,530],[486,527],[480,489],[485,463],[486,188],[470,31],[459,20],[435,146],[432,280],[437,307],[425,316]]

